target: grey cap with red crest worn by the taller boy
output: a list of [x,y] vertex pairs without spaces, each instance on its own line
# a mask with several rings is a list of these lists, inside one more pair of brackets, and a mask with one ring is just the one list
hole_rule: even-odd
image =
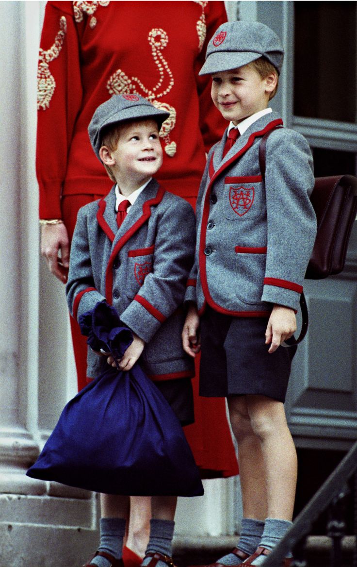
[[261,56],[280,74],[284,49],[277,34],[260,22],[227,22],[219,26],[210,40],[199,75],[237,69]]

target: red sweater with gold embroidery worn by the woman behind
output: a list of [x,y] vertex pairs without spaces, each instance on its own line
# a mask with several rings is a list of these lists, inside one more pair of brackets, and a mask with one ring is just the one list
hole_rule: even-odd
[[124,92],[168,109],[158,178],[173,193],[197,196],[205,152],[224,131],[210,78],[198,71],[226,20],[223,2],[47,3],[38,74],[41,218],[61,218],[61,194],[108,193],[87,127],[99,104]]

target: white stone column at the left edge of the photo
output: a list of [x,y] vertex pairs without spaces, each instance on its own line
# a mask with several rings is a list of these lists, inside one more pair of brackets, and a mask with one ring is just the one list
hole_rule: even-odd
[[38,233],[32,227],[37,191],[34,180],[29,181],[27,128],[31,121],[27,79],[33,69],[23,58],[27,4],[2,2],[0,6],[0,490],[14,493],[41,490],[23,475],[38,452],[31,433],[36,421],[39,263]]

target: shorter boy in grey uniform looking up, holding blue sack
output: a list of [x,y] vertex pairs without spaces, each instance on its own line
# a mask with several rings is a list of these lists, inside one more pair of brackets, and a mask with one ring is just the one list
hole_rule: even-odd
[[[115,95],[94,113],[92,147],[114,185],[79,210],[66,294],[77,319],[100,301],[116,308],[134,336],[119,368],[130,370],[140,359],[186,425],[194,421],[194,366],[182,349],[181,305],[193,264],[195,217],[188,202],[152,178],[162,164],[159,129],[168,116],[134,94]],[[99,375],[108,363],[114,366],[112,357],[89,349],[87,375]],[[171,565],[176,500],[153,495],[143,565]],[[101,495],[100,545],[87,566],[122,567],[128,505],[129,497]]]

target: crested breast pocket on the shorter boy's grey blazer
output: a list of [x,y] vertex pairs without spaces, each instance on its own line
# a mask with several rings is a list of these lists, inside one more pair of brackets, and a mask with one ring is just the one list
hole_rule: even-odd
[[154,246],[129,250],[126,269],[126,295],[130,299],[135,297],[147,274],[152,272],[153,261]]

